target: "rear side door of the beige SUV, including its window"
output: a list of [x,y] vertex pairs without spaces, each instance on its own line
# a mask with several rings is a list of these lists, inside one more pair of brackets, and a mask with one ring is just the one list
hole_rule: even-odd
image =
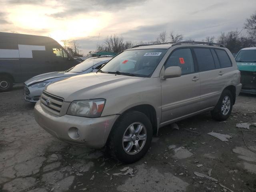
[[193,50],[200,71],[201,109],[214,107],[226,84],[226,70],[220,66],[216,49],[200,47]]

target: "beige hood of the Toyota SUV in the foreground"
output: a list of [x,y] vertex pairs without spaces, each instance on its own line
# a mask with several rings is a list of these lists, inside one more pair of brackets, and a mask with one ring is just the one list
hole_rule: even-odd
[[[138,84],[148,78],[106,73],[88,73],[64,79],[46,87],[45,91],[66,102],[109,97],[122,92],[127,84]],[[138,84],[139,86],[139,84]]]

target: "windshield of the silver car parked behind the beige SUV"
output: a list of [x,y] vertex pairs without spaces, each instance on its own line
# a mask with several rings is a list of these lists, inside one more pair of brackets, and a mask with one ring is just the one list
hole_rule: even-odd
[[73,68],[70,68],[66,72],[72,72],[72,73],[81,73],[89,68],[91,68],[93,65],[98,64],[99,62],[109,60],[108,58],[98,58],[98,59],[92,59],[92,60],[87,60],[84,61]]

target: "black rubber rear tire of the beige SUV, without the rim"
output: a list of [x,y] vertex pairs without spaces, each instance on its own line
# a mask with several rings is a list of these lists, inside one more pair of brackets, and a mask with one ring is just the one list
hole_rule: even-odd
[[[230,98],[230,109],[227,114],[222,113],[222,101],[224,98],[228,96]],[[215,106],[214,110],[211,111],[212,118],[217,121],[224,121],[227,120],[231,114],[233,108],[233,96],[229,90],[224,90],[218,100],[217,105]]]

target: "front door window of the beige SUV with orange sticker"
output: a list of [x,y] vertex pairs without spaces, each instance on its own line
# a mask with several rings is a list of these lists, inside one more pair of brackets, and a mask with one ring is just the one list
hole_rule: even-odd
[[178,66],[182,74],[188,74],[195,71],[193,56],[190,49],[178,49],[171,53],[164,68]]

